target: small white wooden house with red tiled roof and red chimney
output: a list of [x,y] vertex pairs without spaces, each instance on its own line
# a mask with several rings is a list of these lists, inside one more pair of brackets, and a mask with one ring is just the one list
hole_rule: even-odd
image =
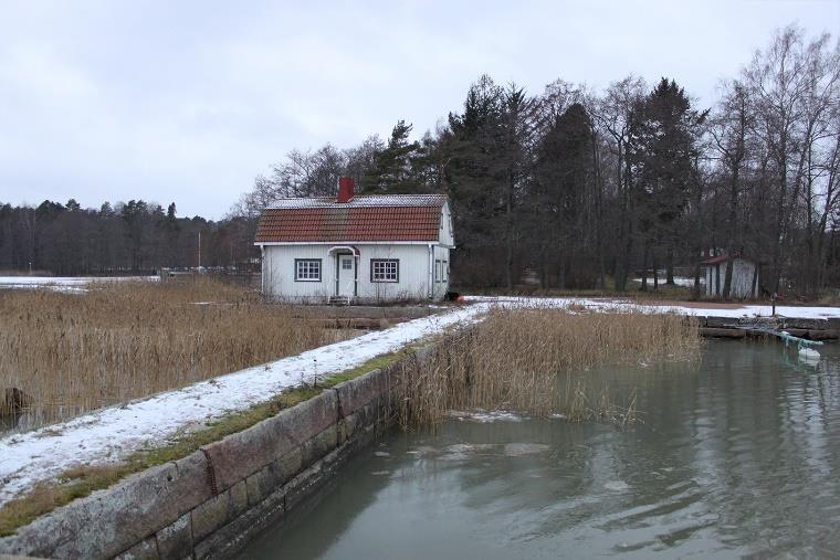
[[449,290],[452,215],[443,194],[281,199],[262,213],[263,293],[296,303],[442,299]]

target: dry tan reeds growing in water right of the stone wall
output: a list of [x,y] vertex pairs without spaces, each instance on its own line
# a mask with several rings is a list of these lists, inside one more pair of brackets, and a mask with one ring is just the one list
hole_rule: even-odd
[[435,424],[452,410],[507,410],[533,416],[594,416],[626,423],[634,395],[618,406],[585,372],[606,364],[693,360],[701,338],[694,319],[575,309],[495,309],[449,337],[422,368],[400,380],[403,427]]

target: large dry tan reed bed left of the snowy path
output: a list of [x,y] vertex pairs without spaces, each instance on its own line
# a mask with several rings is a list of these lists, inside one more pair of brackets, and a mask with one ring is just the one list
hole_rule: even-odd
[[32,427],[348,336],[209,279],[0,290],[0,412]]

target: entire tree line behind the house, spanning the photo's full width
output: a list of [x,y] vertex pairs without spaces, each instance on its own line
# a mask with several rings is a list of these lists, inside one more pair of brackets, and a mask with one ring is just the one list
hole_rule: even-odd
[[144,201],[0,207],[0,268],[192,266],[199,231],[202,264],[250,262],[266,204],[334,196],[342,176],[365,193],[447,193],[458,285],[658,289],[693,276],[699,289],[711,249],[757,262],[767,294],[812,296],[840,285],[840,46],[783,29],[708,107],[672,77],[531,94],[483,75],[419,138],[400,120],[385,139],[292,150],[218,222]]

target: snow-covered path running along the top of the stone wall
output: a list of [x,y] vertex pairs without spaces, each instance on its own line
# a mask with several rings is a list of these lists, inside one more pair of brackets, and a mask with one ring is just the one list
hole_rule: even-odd
[[355,368],[453,325],[477,320],[489,307],[471,305],[414,319],[34,432],[6,436],[0,440],[0,505],[70,466],[116,462],[135,450],[164,444],[178,431],[248,409],[302,381]]

